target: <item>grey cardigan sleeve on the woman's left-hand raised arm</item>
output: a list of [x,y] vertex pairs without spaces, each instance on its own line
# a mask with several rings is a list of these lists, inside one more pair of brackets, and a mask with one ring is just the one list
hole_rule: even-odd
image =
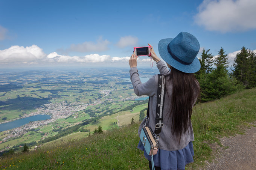
[[131,83],[133,84],[134,93],[137,96],[147,95],[153,96],[157,91],[157,83],[155,75],[151,77],[146,83],[142,83],[139,78],[137,67],[130,69]]

